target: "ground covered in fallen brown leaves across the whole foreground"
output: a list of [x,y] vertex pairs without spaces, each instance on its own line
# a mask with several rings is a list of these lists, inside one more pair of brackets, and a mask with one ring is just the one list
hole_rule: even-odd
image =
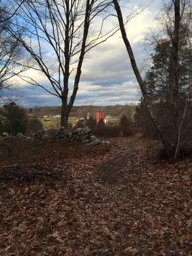
[[1,163],[1,256],[192,255],[192,160],[157,161],[158,141],[112,141]]

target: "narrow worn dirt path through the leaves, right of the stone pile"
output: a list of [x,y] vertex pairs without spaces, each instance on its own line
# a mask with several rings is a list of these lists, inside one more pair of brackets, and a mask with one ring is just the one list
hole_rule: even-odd
[[[125,185],[129,182],[129,175],[138,175],[138,179],[140,179],[140,172],[142,173],[156,161],[152,141],[148,144],[145,141],[145,148],[143,148],[141,139],[138,140],[137,138],[130,138],[128,141],[122,141],[122,143],[126,145],[124,152],[97,166],[100,182]],[[160,147],[156,145],[156,148]]]

